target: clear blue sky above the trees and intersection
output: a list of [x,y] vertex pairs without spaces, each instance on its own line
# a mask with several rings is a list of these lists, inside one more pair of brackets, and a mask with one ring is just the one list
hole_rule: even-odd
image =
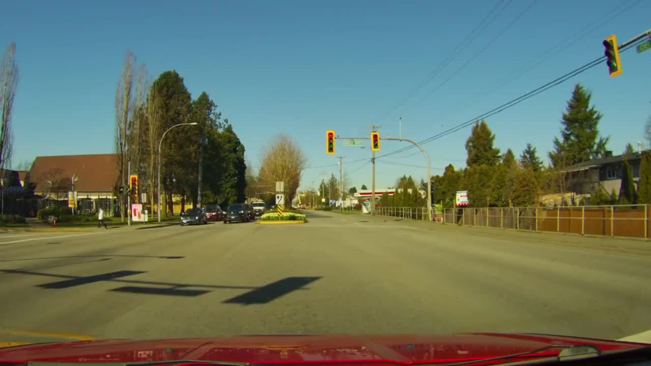
[[[496,5],[469,46],[406,98]],[[152,78],[174,69],[193,97],[208,92],[255,168],[273,135],[292,135],[311,167],[305,188],[320,172],[339,173],[325,154],[326,130],[368,135],[375,123],[397,137],[402,116],[402,135],[424,139],[596,59],[605,36],[622,43],[651,27],[648,14],[646,0],[12,1],[3,5],[0,46],[15,41],[20,66],[14,164],[112,152],[115,88],[129,49]],[[533,143],[546,156],[576,82],[593,92],[611,150],[643,141],[650,62],[651,51],[631,49],[620,76],[603,64],[490,117],[497,147],[519,154]],[[469,131],[426,145],[433,174],[464,165]],[[365,146],[337,144],[357,188],[370,188]],[[381,152],[403,146],[384,141]],[[403,174],[424,177],[414,152],[378,160],[378,188]]]

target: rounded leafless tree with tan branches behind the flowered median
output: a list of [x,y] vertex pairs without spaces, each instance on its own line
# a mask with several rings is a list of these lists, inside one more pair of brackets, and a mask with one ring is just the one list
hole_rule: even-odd
[[262,150],[260,181],[272,187],[275,182],[284,182],[285,203],[289,204],[296,195],[306,162],[303,150],[292,138],[279,134]]

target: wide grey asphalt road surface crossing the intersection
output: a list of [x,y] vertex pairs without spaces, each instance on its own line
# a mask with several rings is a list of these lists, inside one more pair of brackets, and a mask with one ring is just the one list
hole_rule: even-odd
[[651,329],[648,242],[337,213],[146,228],[0,234],[0,341]]

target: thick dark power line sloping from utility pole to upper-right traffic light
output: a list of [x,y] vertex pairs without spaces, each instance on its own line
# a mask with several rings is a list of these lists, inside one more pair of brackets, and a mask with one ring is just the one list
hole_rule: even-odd
[[[638,43],[641,43],[641,42],[638,42]],[[630,44],[630,45],[626,46],[625,48],[620,49],[619,52],[622,53],[622,52],[627,51],[628,49],[630,49],[630,48],[632,48],[634,46],[637,46],[637,44]],[[465,128],[467,126],[471,126],[472,124],[477,122],[477,120],[486,119],[488,117],[496,115],[497,113],[501,113],[501,112],[505,111],[506,109],[517,106],[521,102],[524,102],[525,100],[527,100],[529,98],[532,98],[533,96],[536,96],[536,95],[540,94],[541,92],[547,91],[547,89],[551,89],[552,87],[555,87],[555,86],[563,83],[564,81],[567,81],[568,79],[571,79],[572,77],[577,76],[577,75],[579,75],[579,74],[581,74],[581,73],[583,73],[583,72],[585,72],[587,70],[590,70],[590,68],[593,68],[594,66],[597,66],[597,65],[601,64],[603,62],[603,59],[605,59],[605,56],[598,57],[597,59],[594,59],[593,61],[590,61],[589,63],[584,64],[583,66],[575,68],[571,72],[568,72],[567,74],[564,74],[561,77],[557,77],[556,79],[554,79],[552,81],[549,81],[549,83],[546,83],[545,85],[542,85],[541,87],[538,87],[538,88],[534,89],[533,91],[527,92],[526,94],[522,94],[521,96],[518,96],[518,98],[510,100],[509,102],[506,102],[505,104],[502,104],[499,107],[495,107],[495,108],[491,109],[490,111],[488,111],[486,113],[482,113],[481,115],[478,115],[477,117],[475,117],[473,119],[469,119],[469,120],[467,120],[467,121],[465,121],[463,123],[457,124],[456,126],[453,126],[452,128],[449,128],[448,130],[445,130],[443,132],[439,132],[439,134],[436,134],[436,135],[433,135],[433,136],[428,137],[426,139],[423,139],[423,140],[419,141],[419,143],[421,143],[421,144],[429,143],[429,142],[434,141],[436,139],[439,139],[441,137],[445,137],[445,136],[447,136],[449,134],[452,134],[452,133],[454,133],[454,132],[456,132],[458,130],[461,130],[462,128]],[[379,159],[379,158],[384,158],[386,156],[391,156],[391,155],[394,155],[394,154],[398,154],[400,152],[404,152],[406,150],[409,150],[410,148],[413,148],[413,145],[409,145],[408,147],[400,148],[398,150],[395,150],[393,152],[389,152],[389,153],[384,154],[384,155],[376,156],[376,158]]]

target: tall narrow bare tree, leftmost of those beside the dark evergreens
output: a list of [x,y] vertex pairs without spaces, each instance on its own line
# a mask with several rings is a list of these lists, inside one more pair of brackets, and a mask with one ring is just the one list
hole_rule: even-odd
[[[128,150],[129,114],[133,88],[133,65],[135,56],[127,51],[122,64],[122,75],[118,79],[118,87],[115,91],[115,152],[118,154],[118,184],[128,188],[127,162],[130,156]],[[120,218],[124,221],[124,197],[118,195],[120,203]]]

